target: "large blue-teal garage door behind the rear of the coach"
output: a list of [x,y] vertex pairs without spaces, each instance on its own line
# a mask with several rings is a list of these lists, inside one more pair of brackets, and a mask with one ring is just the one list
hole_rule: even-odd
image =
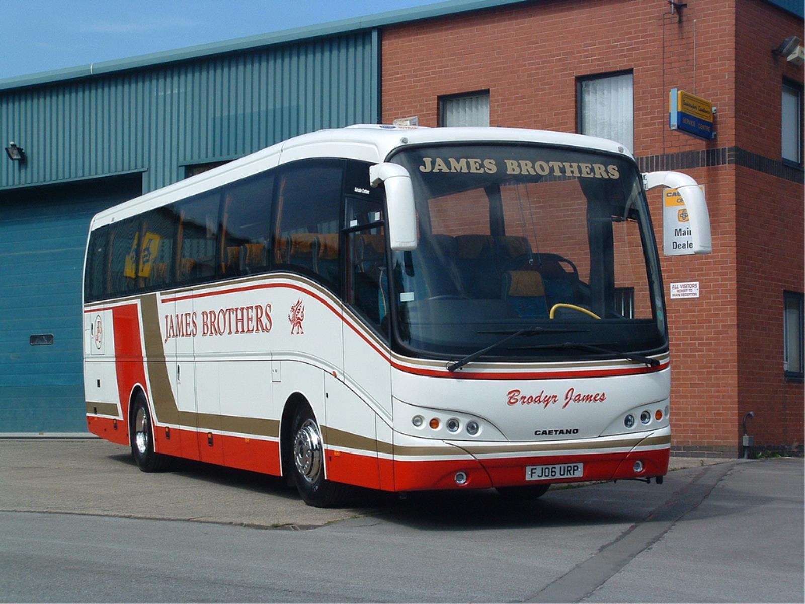
[[140,175],[0,192],[0,433],[86,432],[81,273],[89,220],[141,192]]

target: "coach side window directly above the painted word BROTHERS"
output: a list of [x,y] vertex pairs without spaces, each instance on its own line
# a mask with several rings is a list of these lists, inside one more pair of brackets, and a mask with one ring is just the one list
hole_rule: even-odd
[[221,273],[227,277],[265,271],[269,264],[273,174],[259,174],[225,188],[221,211]]

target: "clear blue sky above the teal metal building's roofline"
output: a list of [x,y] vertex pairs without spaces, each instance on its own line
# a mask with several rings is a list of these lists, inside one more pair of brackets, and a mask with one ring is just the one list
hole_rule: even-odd
[[433,0],[0,0],[0,80]]

